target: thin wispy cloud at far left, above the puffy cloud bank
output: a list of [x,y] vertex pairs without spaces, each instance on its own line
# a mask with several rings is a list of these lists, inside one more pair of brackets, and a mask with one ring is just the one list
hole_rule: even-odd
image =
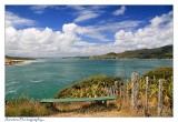
[[6,11],[6,27],[34,26],[36,21],[21,18],[10,11]]

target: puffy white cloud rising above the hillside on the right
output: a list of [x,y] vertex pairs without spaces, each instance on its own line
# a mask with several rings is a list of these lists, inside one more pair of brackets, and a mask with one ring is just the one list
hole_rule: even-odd
[[118,47],[126,49],[157,48],[172,44],[172,11],[150,20],[150,24],[135,32],[119,30],[116,34]]

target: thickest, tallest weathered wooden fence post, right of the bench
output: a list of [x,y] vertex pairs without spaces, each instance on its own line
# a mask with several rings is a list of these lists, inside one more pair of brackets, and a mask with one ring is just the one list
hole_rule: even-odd
[[131,102],[134,109],[137,109],[137,77],[138,74],[136,72],[131,73],[131,82],[132,82],[132,93],[131,93]]

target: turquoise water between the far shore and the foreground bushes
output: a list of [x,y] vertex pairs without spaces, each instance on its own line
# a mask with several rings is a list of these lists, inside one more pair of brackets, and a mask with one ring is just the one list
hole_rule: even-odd
[[85,78],[106,74],[129,79],[165,65],[172,60],[77,60],[43,59],[6,67],[6,99],[28,94],[33,99],[52,98],[60,89]]

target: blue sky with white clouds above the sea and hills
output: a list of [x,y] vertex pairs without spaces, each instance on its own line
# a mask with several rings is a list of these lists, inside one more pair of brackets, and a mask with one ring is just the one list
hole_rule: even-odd
[[6,55],[61,58],[174,43],[172,6],[6,6]]

